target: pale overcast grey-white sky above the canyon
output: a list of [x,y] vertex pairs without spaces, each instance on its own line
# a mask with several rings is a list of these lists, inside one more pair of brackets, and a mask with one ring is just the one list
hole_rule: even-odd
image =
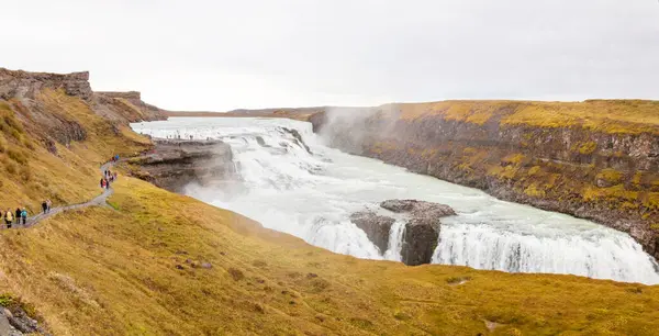
[[657,0],[1,0],[0,67],[165,109],[659,99]]

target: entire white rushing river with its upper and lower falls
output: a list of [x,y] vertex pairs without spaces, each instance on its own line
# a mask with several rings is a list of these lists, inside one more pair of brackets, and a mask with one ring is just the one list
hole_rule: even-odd
[[[132,126],[154,137],[230,144],[241,179],[215,189],[189,186],[187,193],[339,254],[400,260],[402,222],[380,254],[348,216],[383,200],[417,199],[458,213],[442,220],[433,262],[659,283],[655,261],[627,234],[328,148],[309,123],[174,117]],[[312,154],[284,128],[297,130]]]

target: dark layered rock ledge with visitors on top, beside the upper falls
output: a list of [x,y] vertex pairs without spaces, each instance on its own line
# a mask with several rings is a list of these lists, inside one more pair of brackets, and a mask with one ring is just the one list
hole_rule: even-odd
[[231,146],[221,141],[155,139],[155,148],[132,159],[134,176],[172,192],[189,183],[208,186],[234,173]]

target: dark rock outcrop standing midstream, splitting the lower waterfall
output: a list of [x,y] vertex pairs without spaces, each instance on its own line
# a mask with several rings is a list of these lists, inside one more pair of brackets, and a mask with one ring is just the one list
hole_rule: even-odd
[[[403,215],[405,228],[401,257],[409,266],[431,262],[439,240],[439,220],[456,214],[448,205],[416,200],[388,200],[380,203],[380,208]],[[350,215],[350,221],[366,233],[382,254],[389,248],[391,226],[395,219],[362,211]]]

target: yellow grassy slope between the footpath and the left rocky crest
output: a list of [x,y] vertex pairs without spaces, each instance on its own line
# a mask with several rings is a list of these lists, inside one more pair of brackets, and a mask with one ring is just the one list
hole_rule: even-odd
[[[83,141],[70,139],[81,132]],[[47,198],[54,205],[88,200],[98,193],[101,163],[148,144],[62,90],[41,91],[26,102],[0,99],[0,206],[35,213]]]

